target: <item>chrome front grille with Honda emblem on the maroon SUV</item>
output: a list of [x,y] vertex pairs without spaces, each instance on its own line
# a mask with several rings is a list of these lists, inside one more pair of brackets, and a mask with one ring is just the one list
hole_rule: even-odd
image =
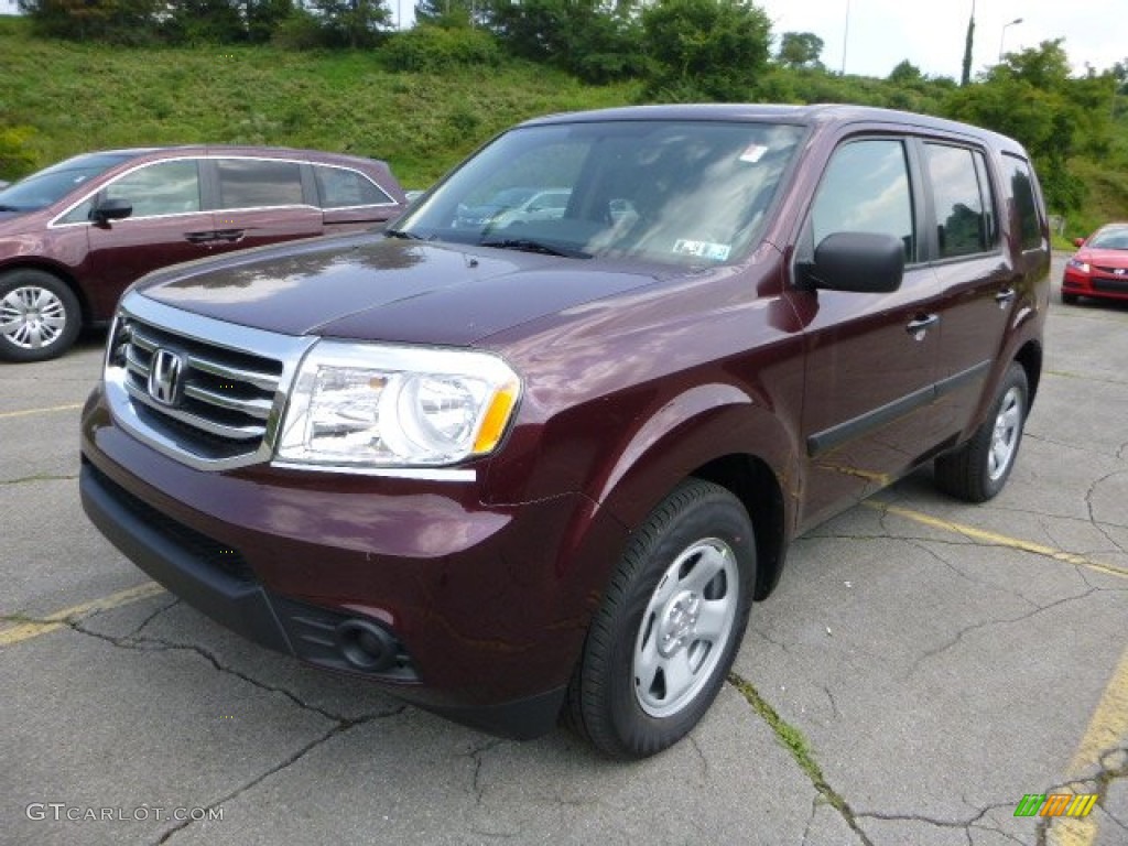
[[[312,343],[130,296],[106,356],[111,409],[135,435],[186,464],[220,469],[266,460],[293,369]],[[155,387],[155,368],[157,381],[175,385]]]

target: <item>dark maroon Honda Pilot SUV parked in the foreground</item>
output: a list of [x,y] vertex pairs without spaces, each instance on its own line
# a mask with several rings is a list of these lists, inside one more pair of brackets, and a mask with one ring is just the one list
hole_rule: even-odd
[[[566,204],[506,214],[515,188]],[[708,708],[797,532],[929,462],[966,500],[1003,488],[1049,257],[1029,157],[971,126],[531,121],[382,233],[131,290],[83,505],[272,649],[650,755]]]

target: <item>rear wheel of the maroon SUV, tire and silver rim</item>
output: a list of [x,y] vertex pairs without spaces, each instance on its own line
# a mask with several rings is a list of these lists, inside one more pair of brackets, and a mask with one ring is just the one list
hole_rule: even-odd
[[1011,475],[1030,409],[1026,371],[1012,362],[990,414],[971,440],[936,459],[936,486],[967,502],[986,502]]

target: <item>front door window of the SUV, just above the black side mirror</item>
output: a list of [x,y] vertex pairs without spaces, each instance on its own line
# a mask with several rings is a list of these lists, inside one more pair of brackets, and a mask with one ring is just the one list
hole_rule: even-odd
[[875,139],[836,150],[814,199],[811,227],[814,245],[834,232],[891,235],[905,245],[905,261],[915,261],[905,146]]

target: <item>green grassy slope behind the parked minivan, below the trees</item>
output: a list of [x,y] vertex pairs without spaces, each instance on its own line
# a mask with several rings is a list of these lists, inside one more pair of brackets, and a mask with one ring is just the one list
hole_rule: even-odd
[[425,187],[519,120],[637,97],[539,65],[389,73],[370,52],[121,50],[30,38],[27,23],[0,17],[0,130],[30,127],[38,166],[108,147],[247,142],[384,158],[406,187]]

